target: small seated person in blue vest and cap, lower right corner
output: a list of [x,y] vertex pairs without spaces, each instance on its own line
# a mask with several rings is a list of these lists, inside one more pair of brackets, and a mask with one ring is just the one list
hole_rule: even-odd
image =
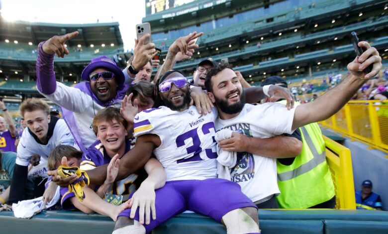
[[382,210],[380,195],[372,192],[372,181],[364,180],[362,189],[356,191],[356,208],[357,210]]

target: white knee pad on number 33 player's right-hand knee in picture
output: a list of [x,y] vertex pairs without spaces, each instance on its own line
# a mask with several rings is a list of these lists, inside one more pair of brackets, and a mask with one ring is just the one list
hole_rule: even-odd
[[243,210],[236,209],[226,213],[222,220],[227,234],[260,233],[258,224]]

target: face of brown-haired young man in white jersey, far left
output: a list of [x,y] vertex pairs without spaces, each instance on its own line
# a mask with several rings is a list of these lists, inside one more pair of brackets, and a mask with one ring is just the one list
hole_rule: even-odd
[[45,114],[42,110],[35,110],[32,112],[26,111],[23,117],[27,123],[28,129],[30,129],[41,142],[46,143],[50,115]]

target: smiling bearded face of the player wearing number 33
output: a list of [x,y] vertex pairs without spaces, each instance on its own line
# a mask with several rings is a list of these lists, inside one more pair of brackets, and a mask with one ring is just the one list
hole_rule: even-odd
[[[168,82],[172,78],[182,77],[185,78],[182,74],[178,72],[173,72],[162,82]],[[183,111],[189,108],[191,96],[190,96],[190,87],[189,85],[177,88],[175,84],[171,84],[171,89],[165,93],[159,93],[163,103],[166,107],[170,108],[173,111]]]

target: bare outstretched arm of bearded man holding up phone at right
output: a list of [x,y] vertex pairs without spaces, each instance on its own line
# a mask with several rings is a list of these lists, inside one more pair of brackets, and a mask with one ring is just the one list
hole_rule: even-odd
[[[297,106],[292,129],[324,120],[337,113],[368,79],[379,74],[383,65],[377,49],[365,41],[359,42],[358,45],[364,47],[366,51],[348,64],[348,70],[351,74],[314,102]],[[371,64],[373,64],[372,72],[365,74],[364,69]]]

